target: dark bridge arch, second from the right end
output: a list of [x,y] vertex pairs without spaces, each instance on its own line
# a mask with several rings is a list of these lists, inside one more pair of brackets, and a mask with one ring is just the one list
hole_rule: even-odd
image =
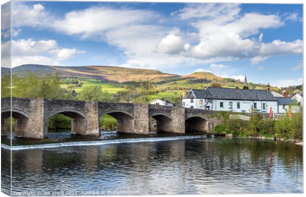
[[[171,115],[167,113],[157,112],[149,115],[149,118],[156,120],[156,131],[170,131],[170,122],[172,121]],[[153,121],[151,119],[151,121]],[[152,125],[152,124],[151,124]]]

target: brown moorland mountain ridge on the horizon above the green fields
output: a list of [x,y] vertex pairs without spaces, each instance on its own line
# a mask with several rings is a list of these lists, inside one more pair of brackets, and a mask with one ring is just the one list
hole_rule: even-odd
[[[31,72],[41,71],[42,73],[58,73],[62,78],[85,77],[100,80],[102,82],[125,83],[130,81],[152,80],[153,82],[162,82],[169,80],[185,79],[216,79],[218,77],[211,72],[193,72],[188,75],[177,75],[164,73],[159,70],[145,68],[127,68],[116,66],[48,66],[48,65],[20,65],[12,68],[12,73],[22,75],[27,70]],[[8,73],[9,68],[1,67],[2,74]]]

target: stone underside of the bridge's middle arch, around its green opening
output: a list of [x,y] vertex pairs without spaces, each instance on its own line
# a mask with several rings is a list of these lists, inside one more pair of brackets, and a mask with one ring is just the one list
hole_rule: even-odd
[[99,119],[104,115],[110,115],[116,119],[116,131],[117,132],[133,132],[135,126],[135,117],[124,110],[108,110],[99,114]]

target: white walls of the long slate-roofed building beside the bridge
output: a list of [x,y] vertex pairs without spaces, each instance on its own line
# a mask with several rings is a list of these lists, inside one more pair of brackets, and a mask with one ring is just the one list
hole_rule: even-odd
[[[202,102],[202,106],[199,105],[200,99],[193,99],[193,103],[191,103],[191,99],[183,99],[185,102],[185,106],[197,109],[204,109],[204,99]],[[223,102],[223,107],[220,107],[220,102]],[[229,108],[229,102],[232,102],[232,109]],[[237,102],[240,102],[240,108],[237,108]],[[246,113],[251,112],[251,107],[254,106],[254,103],[257,103],[257,109],[259,112],[270,112],[270,107],[272,107],[273,113],[277,113],[277,101],[260,101],[260,100],[229,100],[229,99],[213,99],[212,103],[208,103],[209,109],[214,111],[233,111],[233,112],[243,112]],[[263,103],[266,103],[266,110],[263,109]]]

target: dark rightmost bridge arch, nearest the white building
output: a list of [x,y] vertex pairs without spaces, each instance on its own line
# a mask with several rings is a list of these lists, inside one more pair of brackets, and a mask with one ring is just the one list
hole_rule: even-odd
[[208,118],[202,115],[191,115],[185,118],[185,132],[207,132]]

